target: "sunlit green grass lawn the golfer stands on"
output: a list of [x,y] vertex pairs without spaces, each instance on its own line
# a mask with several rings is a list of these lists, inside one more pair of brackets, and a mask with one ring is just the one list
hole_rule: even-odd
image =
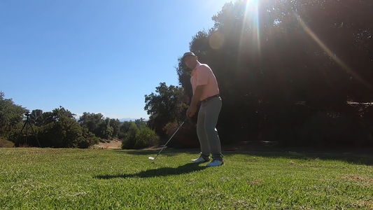
[[373,158],[0,148],[0,209],[373,209]]

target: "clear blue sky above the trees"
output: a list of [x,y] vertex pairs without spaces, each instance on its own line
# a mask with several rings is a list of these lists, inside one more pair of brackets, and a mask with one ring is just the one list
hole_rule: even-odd
[[29,110],[147,119],[144,95],[178,85],[178,57],[227,1],[2,0],[0,90]]

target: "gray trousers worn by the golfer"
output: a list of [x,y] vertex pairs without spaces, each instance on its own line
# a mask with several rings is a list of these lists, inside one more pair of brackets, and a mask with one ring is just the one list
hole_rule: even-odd
[[216,130],[221,106],[220,97],[216,97],[210,99],[209,102],[202,102],[199,108],[197,135],[201,145],[202,158],[209,158],[211,153],[213,160],[223,161],[218,130]]

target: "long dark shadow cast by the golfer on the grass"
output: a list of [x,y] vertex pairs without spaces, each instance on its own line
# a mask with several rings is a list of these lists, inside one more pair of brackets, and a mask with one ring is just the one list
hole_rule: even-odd
[[188,163],[177,168],[164,167],[160,169],[149,169],[136,174],[116,174],[116,175],[99,175],[94,176],[96,179],[115,179],[115,178],[150,178],[155,176],[171,176],[189,174],[191,172],[199,172],[206,169],[205,166],[200,166],[197,163]]

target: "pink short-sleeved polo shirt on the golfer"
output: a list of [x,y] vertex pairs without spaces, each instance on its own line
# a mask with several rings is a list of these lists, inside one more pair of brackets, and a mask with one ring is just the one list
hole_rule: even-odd
[[190,83],[192,83],[193,94],[195,94],[195,89],[198,85],[204,85],[199,101],[202,101],[215,94],[219,94],[218,82],[216,81],[213,71],[207,64],[197,62],[197,66],[195,66],[195,69],[192,71]]

